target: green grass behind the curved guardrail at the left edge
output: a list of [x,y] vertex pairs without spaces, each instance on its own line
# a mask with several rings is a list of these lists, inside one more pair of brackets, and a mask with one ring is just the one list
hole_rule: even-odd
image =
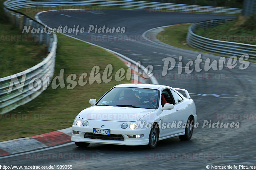
[[30,41],[10,23],[0,22],[0,78],[27,70],[47,56],[47,47]]

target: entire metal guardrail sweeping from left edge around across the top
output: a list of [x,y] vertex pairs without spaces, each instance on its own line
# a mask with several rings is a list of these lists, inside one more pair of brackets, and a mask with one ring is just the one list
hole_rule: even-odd
[[[197,6],[197,5],[184,5],[184,4],[169,4],[169,3],[155,3],[155,2],[143,2],[143,1],[131,1],[131,0],[7,0],[4,2],[4,11],[8,18],[13,24],[22,29],[24,26],[32,26],[33,28],[43,28],[44,26],[34,20],[33,18],[21,13],[14,11],[19,8],[24,7],[35,7],[35,6],[77,6],[77,5],[88,5],[88,6],[112,6],[112,7],[124,7],[124,8],[138,8],[147,9],[149,12],[168,12],[168,11],[188,11],[188,12],[209,12],[209,13],[224,13],[224,14],[237,14],[241,13],[242,9],[236,8],[220,8],[220,7],[208,7],[208,6]],[[20,73],[14,74],[17,76],[19,82],[21,83],[22,76],[25,74],[24,87],[21,91],[21,87],[18,89],[13,85],[12,92],[7,94],[9,85],[12,77],[0,78],[0,114],[9,112],[10,110],[23,105],[43,92],[43,88],[47,87],[48,83],[43,81],[45,77],[51,79],[54,73],[55,56],[57,48],[57,36],[47,33],[37,33],[32,34],[39,43],[46,44],[48,52],[50,54],[39,64],[34,67],[22,71]],[[42,86],[37,91],[29,90],[29,82],[33,78],[40,79]]]

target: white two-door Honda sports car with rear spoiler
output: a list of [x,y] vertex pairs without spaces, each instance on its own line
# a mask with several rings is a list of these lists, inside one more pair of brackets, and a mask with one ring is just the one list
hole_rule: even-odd
[[197,119],[188,91],[166,85],[120,84],[90,104],[72,126],[71,141],[79,147],[100,143],[153,149],[158,140],[176,136],[189,140]]

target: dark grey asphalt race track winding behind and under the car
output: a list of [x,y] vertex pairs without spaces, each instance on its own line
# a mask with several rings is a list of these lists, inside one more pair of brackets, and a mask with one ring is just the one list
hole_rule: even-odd
[[[200,64],[204,68],[206,58],[219,61],[220,56],[200,53],[196,51],[175,48],[169,45],[160,45],[145,41],[142,33],[145,31],[173,24],[193,23],[198,21],[234,18],[234,16],[180,13],[180,12],[148,12],[140,10],[99,10],[92,12],[43,12],[40,20],[54,28],[60,25],[85,27],[84,33],[70,33],[69,35],[88,41],[104,48],[116,51],[131,58],[141,61],[143,66],[152,65],[153,73],[159,84],[175,88],[187,89],[193,93],[196,102],[199,127],[194,129],[190,141],[180,141],[178,137],[159,141],[157,148],[148,150],[144,146],[121,146],[107,144],[90,144],[82,149],[75,144],[59,147],[47,151],[36,152],[44,154],[75,154],[80,159],[29,159],[22,156],[1,159],[1,164],[17,166],[50,166],[72,165],[73,169],[207,169],[207,165],[243,165],[256,166],[256,64],[250,63],[249,67],[240,70],[241,63],[233,69],[227,66],[227,60],[222,70],[204,69],[194,71],[191,77],[181,77],[178,70],[178,57],[182,56],[184,66],[189,60],[196,60],[198,54],[203,59]],[[125,27],[125,33],[87,33],[89,25],[99,27]],[[113,41],[96,41],[94,36],[138,35],[139,41],[118,39]],[[92,38],[93,37],[93,38]],[[171,37],[168,37],[171,38]],[[99,39],[98,39],[99,40]],[[161,77],[163,58],[172,57],[176,66]],[[237,56],[240,57],[240,56]],[[195,68],[194,65],[191,68]],[[173,77],[172,77],[173,76]],[[197,77],[199,76],[199,78]],[[204,77],[204,78],[202,78]],[[234,118],[234,114],[238,116]],[[226,117],[225,117],[226,116]],[[228,119],[231,120],[227,120]],[[209,122],[239,122],[239,128],[203,128],[204,120]],[[83,157],[85,154],[85,157]],[[230,168],[232,169],[232,168]],[[240,168],[242,169],[242,168]]]

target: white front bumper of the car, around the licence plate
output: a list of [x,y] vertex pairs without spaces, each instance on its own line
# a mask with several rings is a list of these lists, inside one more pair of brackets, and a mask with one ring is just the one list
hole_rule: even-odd
[[[83,119],[81,119],[84,121]],[[100,120],[87,120],[89,124],[87,126],[77,126],[73,124],[72,130],[79,131],[79,134],[73,134],[71,141],[74,142],[87,142],[87,143],[99,143],[99,144],[120,144],[120,145],[146,145],[148,144],[148,137],[150,129],[145,127],[138,127],[137,129],[131,130],[129,124],[132,122],[117,122],[117,121],[100,121]],[[128,127],[122,129],[121,125],[127,123]],[[103,128],[101,126],[104,125]],[[103,140],[103,139],[91,139],[84,138],[86,132],[93,133],[93,129],[110,129],[110,134],[122,135],[124,140]],[[127,135],[144,135],[140,138],[129,138]]]

